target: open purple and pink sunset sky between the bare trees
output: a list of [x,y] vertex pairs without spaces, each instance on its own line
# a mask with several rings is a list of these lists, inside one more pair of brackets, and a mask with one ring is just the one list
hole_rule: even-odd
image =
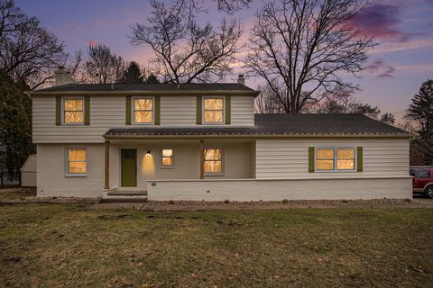
[[[244,41],[254,13],[264,2],[255,0],[249,8],[232,16],[244,23]],[[143,65],[152,57],[151,49],[134,48],[127,38],[129,26],[144,23],[150,14],[148,1],[16,0],[15,3],[25,14],[37,16],[46,28],[58,35],[69,52],[103,43],[116,54]],[[223,14],[215,12],[215,2],[204,4],[208,13],[201,14],[198,20],[218,23]],[[355,96],[379,106],[382,112],[394,113],[401,121],[412,95],[418,92],[422,82],[433,78],[433,0],[373,0],[353,24],[379,43],[369,52],[362,77],[350,79],[362,88]],[[244,52],[240,53],[239,60],[243,56]],[[239,73],[242,73],[240,63],[226,81],[235,81]],[[246,81],[253,88],[261,83],[254,78]]]

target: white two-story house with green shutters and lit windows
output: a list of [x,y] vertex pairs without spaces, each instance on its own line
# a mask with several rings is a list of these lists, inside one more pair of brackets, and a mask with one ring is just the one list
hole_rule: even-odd
[[243,78],[94,85],[62,73],[30,93],[40,196],[411,198],[410,134],[380,121],[254,115],[259,92]]

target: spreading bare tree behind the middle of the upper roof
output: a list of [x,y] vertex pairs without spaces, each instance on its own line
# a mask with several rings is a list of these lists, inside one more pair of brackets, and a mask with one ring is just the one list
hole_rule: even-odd
[[147,24],[135,23],[130,35],[134,46],[148,45],[155,53],[153,70],[167,82],[207,82],[226,76],[242,29],[237,21],[222,20],[216,31],[210,23],[199,26],[176,9],[152,1]]

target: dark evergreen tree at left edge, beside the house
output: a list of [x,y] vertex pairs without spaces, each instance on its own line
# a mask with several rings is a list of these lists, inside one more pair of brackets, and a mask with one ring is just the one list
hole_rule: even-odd
[[[0,144],[5,151],[7,173],[17,177],[21,166],[35,153],[32,145],[32,101],[23,94],[23,85],[17,85],[0,70]],[[27,87],[28,89],[28,87]]]

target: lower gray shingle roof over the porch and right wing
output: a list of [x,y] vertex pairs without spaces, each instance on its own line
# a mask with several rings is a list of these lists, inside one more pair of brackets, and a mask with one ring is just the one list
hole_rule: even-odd
[[255,114],[254,127],[132,127],[111,129],[109,137],[154,136],[348,136],[399,135],[410,133],[396,127],[353,114]]

